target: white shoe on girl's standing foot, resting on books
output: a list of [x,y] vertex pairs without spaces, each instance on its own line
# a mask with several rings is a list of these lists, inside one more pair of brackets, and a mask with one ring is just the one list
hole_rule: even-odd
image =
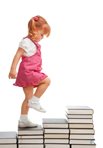
[[18,127],[37,127],[37,126],[38,124],[34,124],[29,120],[26,120],[26,121],[19,120],[19,123],[18,123]]

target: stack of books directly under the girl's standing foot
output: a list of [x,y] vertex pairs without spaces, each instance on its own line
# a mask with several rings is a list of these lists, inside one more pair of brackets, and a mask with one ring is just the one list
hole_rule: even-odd
[[43,128],[18,128],[18,148],[43,148]]

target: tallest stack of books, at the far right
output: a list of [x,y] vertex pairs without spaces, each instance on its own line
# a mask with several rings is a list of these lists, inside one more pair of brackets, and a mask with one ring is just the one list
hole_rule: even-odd
[[95,148],[93,109],[88,106],[67,106],[71,148]]

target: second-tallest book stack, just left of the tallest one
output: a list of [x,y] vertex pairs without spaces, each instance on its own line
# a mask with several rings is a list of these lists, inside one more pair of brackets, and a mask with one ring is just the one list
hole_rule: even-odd
[[45,148],[70,148],[68,122],[63,118],[43,118]]

